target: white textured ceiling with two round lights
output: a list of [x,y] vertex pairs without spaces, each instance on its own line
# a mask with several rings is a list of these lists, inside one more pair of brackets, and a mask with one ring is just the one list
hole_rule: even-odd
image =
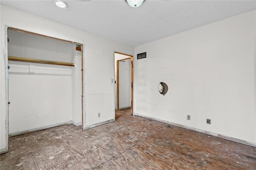
[[[256,9],[255,0],[145,0],[138,8],[125,0],[1,0],[2,4],[133,46]],[[238,23],[239,24],[239,23]]]

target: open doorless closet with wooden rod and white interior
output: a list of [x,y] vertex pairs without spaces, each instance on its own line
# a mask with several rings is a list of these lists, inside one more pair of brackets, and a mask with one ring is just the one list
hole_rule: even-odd
[[7,136],[83,127],[83,44],[12,27],[6,35]]

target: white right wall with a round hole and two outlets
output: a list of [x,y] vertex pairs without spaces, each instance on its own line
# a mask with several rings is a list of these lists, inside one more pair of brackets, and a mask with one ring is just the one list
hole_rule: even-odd
[[255,21],[254,10],[135,47],[147,58],[134,60],[134,113],[255,144]]

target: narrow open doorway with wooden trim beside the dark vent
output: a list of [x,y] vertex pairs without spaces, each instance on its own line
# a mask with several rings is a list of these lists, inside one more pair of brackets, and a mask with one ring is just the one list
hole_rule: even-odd
[[115,59],[115,108],[131,108],[133,115],[133,56],[114,52]]

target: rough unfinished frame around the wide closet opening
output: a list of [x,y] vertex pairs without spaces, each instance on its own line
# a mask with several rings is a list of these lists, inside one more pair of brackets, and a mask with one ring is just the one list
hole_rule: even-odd
[[81,94],[81,97],[82,97],[82,129],[83,129],[83,125],[84,125],[84,44],[83,43],[78,43],[78,42],[73,42],[73,41],[69,41],[69,40],[64,40],[64,39],[60,39],[60,38],[54,38],[54,37],[51,37],[51,36],[46,36],[46,35],[43,35],[43,34],[38,34],[38,33],[35,33],[35,32],[30,32],[30,31],[26,31],[26,30],[21,30],[19,28],[14,28],[14,27],[11,27],[11,26],[7,26],[5,25],[5,91],[6,91],[6,148],[4,148],[3,150],[1,149],[1,154],[2,153],[5,153],[8,151],[8,135],[9,135],[9,120],[8,120],[8,117],[9,117],[9,108],[8,108],[8,98],[9,98],[9,90],[8,90],[8,40],[7,40],[7,36],[8,36],[8,30],[15,30],[15,31],[19,31],[19,32],[24,32],[24,33],[28,33],[28,34],[33,34],[33,35],[36,35],[36,36],[42,36],[42,37],[45,37],[45,38],[51,38],[51,39],[54,39],[54,40],[59,40],[59,41],[63,41],[63,42],[68,42],[68,43],[73,43],[73,44],[79,44],[81,45],[81,60],[82,60],[82,66],[81,66],[81,71],[82,71],[82,94]]

